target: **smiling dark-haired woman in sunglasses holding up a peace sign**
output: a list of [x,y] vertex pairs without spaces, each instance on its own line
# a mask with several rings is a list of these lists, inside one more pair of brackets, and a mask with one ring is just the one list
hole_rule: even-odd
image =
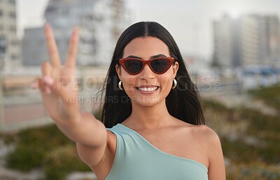
[[78,96],[77,27],[64,66],[48,24],[45,35],[51,63],[42,64],[33,86],[98,179],[225,179],[220,140],[204,125],[197,89],[164,27],[139,22],[120,36],[106,77],[103,123],[69,100]]

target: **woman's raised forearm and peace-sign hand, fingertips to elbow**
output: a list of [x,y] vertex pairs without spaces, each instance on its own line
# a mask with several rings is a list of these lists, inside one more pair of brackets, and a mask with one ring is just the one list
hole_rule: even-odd
[[45,37],[50,62],[42,63],[42,77],[38,77],[32,87],[40,89],[45,110],[62,133],[75,141],[77,146],[91,149],[92,161],[88,163],[97,164],[106,149],[107,132],[105,126],[90,112],[79,111],[78,82],[75,79],[78,28],[73,29],[64,66],[48,24],[45,25]]

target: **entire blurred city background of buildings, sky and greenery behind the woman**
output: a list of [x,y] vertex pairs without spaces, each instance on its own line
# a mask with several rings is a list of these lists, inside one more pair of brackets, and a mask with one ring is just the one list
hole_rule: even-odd
[[[139,21],[159,22],[178,43],[228,179],[280,179],[279,16],[276,0],[0,0],[0,179],[94,179],[30,88],[48,60],[43,26],[51,24],[62,61],[79,27],[80,103],[92,111],[116,40]],[[65,158],[77,167],[63,167]]]

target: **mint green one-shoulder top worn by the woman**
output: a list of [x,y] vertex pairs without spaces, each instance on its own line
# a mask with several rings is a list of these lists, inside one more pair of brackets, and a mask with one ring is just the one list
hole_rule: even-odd
[[116,155],[106,180],[208,180],[202,163],[165,153],[136,131],[118,123]]

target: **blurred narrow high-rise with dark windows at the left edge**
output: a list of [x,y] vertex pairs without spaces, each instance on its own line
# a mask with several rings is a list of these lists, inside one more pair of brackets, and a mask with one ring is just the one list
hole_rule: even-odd
[[5,71],[12,71],[19,66],[20,41],[17,37],[17,15],[15,0],[0,1],[0,63]]

